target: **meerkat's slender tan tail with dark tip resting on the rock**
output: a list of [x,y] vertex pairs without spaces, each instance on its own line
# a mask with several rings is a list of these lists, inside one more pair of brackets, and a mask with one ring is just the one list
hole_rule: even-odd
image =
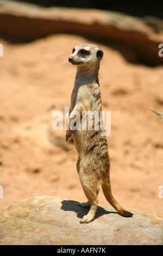
[[101,185],[106,200],[112,207],[114,207],[114,209],[118,212],[119,215],[123,217],[133,216],[131,212],[124,210],[112,195],[109,175],[104,176]]

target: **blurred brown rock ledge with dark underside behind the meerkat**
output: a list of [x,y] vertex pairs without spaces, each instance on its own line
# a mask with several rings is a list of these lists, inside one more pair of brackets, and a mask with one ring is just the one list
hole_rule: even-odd
[[53,33],[92,36],[107,45],[113,40],[114,47],[115,42],[126,45],[133,55],[131,62],[149,65],[163,63],[158,54],[163,39],[162,24],[161,19],[141,19],[113,11],[85,9],[83,12],[78,8],[45,8],[1,0],[0,33],[7,40],[27,42]]

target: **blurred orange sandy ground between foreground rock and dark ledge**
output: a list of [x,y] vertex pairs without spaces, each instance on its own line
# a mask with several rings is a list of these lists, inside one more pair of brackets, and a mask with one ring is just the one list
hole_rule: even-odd
[[[70,106],[73,46],[91,41],[58,34],[28,44],[0,42],[0,211],[42,195],[85,202],[77,151],[66,143],[65,131],[52,129],[52,114]],[[163,120],[150,109],[163,112],[163,68],[128,63],[120,51],[98,46],[104,51],[99,72],[103,110],[111,111],[112,192],[124,208],[162,216]],[[99,204],[108,205],[102,190]]]

